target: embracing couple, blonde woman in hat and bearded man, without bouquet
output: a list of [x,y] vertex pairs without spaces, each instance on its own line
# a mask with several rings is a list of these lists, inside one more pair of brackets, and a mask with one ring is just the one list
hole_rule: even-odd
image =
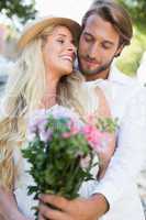
[[[79,34],[80,26],[76,22],[54,18],[35,23],[22,35],[19,42],[22,53],[7,86],[5,117],[0,124],[0,151],[4,162],[0,167],[1,185],[11,191],[16,185],[14,179],[21,169],[21,157],[15,152],[25,141],[26,116],[36,108],[49,108],[58,102],[74,107],[81,118],[91,111],[109,117],[108,102],[99,86],[105,92],[112,114],[120,118],[114,155],[112,158],[112,153],[108,155],[104,176],[93,186],[87,185],[85,191],[90,191],[90,198],[68,201],[42,195],[40,220],[144,220],[135,178],[144,161],[146,143],[145,89],[133,98],[137,89],[131,79],[117,70],[114,73],[111,66],[113,58],[130,44],[131,20],[125,10],[109,1],[96,1],[85,14],[78,61],[79,69],[89,82],[85,82],[78,72],[71,74]],[[13,195],[2,187],[0,193],[2,218],[26,220],[18,210]],[[60,208],[60,211],[52,210],[46,204]]]

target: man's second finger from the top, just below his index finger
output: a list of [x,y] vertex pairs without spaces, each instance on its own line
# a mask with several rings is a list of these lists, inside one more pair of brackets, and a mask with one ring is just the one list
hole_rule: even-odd
[[42,218],[40,220],[44,220],[43,218],[52,220],[71,220],[67,213],[56,209],[50,209],[43,204],[40,205],[40,218]]

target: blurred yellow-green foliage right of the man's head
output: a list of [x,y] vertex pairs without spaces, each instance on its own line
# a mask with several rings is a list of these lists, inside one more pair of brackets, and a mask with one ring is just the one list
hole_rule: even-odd
[[130,12],[134,24],[132,44],[124,48],[117,59],[119,68],[127,75],[135,75],[143,53],[146,51],[146,0],[117,0]]

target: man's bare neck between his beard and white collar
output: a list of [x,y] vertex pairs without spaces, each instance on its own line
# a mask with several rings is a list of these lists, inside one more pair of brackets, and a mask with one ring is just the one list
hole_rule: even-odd
[[98,74],[86,75],[86,80],[92,81],[92,80],[97,80],[97,79],[108,79],[109,73],[110,73],[110,69],[106,69],[106,70],[98,73]]

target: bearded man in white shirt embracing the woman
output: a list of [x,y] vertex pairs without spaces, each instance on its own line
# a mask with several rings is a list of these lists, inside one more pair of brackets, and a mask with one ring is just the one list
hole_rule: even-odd
[[[145,219],[135,178],[144,161],[146,96],[142,91],[131,98],[138,90],[135,81],[112,66],[114,57],[130,44],[132,34],[128,14],[115,2],[94,1],[83,16],[79,68],[88,84],[104,88],[112,114],[120,119],[117,148],[105,176],[93,188],[89,199],[68,201],[63,197],[43,195],[40,220]],[[59,209],[53,210],[45,204]],[[128,204],[131,208],[127,208]]]

